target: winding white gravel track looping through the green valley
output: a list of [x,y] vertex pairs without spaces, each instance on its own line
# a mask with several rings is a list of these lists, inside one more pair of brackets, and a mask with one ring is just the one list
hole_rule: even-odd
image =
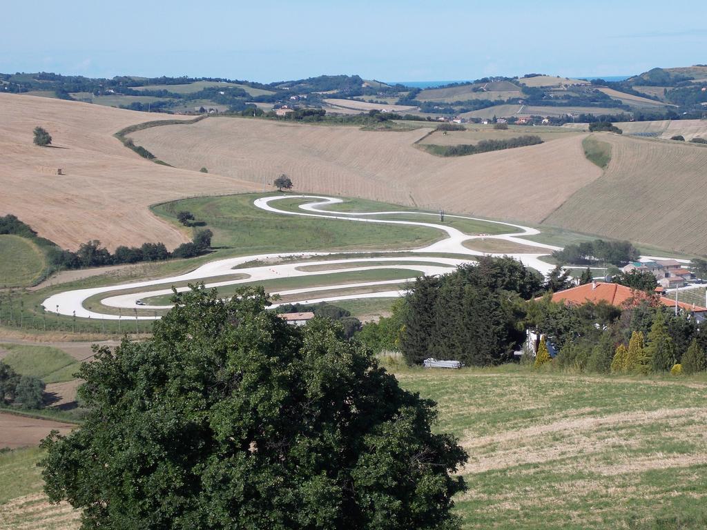
[[[301,204],[297,211],[288,211],[281,208],[276,208],[272,206],[271,203],[278,201],[279,199],[312,199],[311,202],[306,204]],[[83,318],[102,318],[102,319],[119,319],[121,316],[119,314],[106,314],[104,312],[99,312],[98,310],[88,309],[87,300],[92,298],[96,300],[95,305],[114,307],[119,310],[127,310],[126,313],[122,315],[122,318],[130,319],[141,319],[141,320],[151,320],[159,318],[156,316],[146,316],[138,315],[135,316],[134,310],[165,310],[169,309],[170,305],[145,305],[144,303],[138,305],[138,300],[153,298],[163,295],[169,295],[172,293],[172,285],[180,285],[177,288],[178,291],[187,290],[187,282],[196,282],[206,280],[207,288],[211,287],[224,287],[226,285],[238,285],[239,283],[251,283],[251,282],[262,282],[269,281],[276,278],[296,278],[303,276],[322,276],[323,274],[333,274],[341,273],[346,271],[371,271],[376,269],[397,269],[397,270],[409,270],[411,272],[408,280],[414,280],[416,276],[420,273],[426,275],[438,275],[452,270],[460,264],[473,262],[472,257],[477,257],[481,255],[491,255],[491,256],[501,256],[508,255],[515,259],[521,261],[525,266],[537,269],[541,273],[547,274],[553,266],[547,264],[546,262],[539,259],[539,257],[549,254],[553,250],[558,250],[560,247],[554,247],[552,245],[544,245],[542,243],[525,240],[524,236],[537,235],[539,230],[534,228],[513,225],[510,223],[501,223],[500,221],[490,221],[481,218],[467,217],[467,216],[447,216],[448,218],[458,218],[458,219],[469,219],[469,220],[479,220],[484,223],[493,223],[497,225],[503,225],[518,229],[518,232],[513,232],[509,234],[502,235],[468,235],[464,234],[456,228],[452,228],[447,225],[438,223],[424,223],[421,221],[412,220],[392,220],[392,219],[380,219],[380,216],[389,215],[407,215],[407,216],[436,216],[435,213],[421,213],[413,211],[376,211],[376,212],[332,212],[327,211],[322,208],[324,206],[332,206],[334,204],[339,204],[343,201],[341,199],[335,199],[326,196],[316,196],[316,195],[284,195],[284,196],[269,196],[263,197],[262,199],[256,199],[254,205],[257,208],[262,208],[265,211],[270,211],[281,215],[291,215],[291,216],[308,216],[321,218],[322,223],[330,222],[332,220],[347,220],[351,222],[359,223],[380,223],[380,224],[390,224],[390,225],[415,225],[424,226],[428,228],[434,228],[444,232],[445,237],[440,239],[438,242],[428,245],[427,247],[419,249],[400,249],[397,251],[390,250],[380,250],[380,251],[368,251],[368,252],[345,252],[347,255],[360,254],[360,257],[347,257],[346,259],[322,259],[322,260],[312,260],[317,257],[330,257],[337,254],[344,254],[344,252],[287,252],[282,254],[257,254],[253,256],[244,256],[229,259],[219,259],[216,261],[211,261],[207,264],[200,266],[198,269],[194,269],[189,273],[180,274],[179,276],[173,276],[170,278],[161,278],[158,280],[142,281],[138,283],[122,283],[119,285],[109,285],[106,287],[97,287],[90,289],[78,289],[69,290],[64,293],[59,293],[57,295],[52,295],[47,300],[43,302],[44,307],[49,312],[56,312],[58,314],[64,314],[71,316],[75,314],[76,317]],[[375,218],[374,218],[375,216]],[[548,252],[544,254],[533,254],[533,253],[514,253],[514,254],[489,254],[486,252],[479,252],[477,250],[472,250],[464,246],[464,242],[474,239],[498,239],[506,240],[509,242],[514,242],[519,245],[530,245],[532,247],[539,247],[547,249]],[[377,252],[385,252],[386,254],[395,254],[396,252],[414,253],[413,257],[400,256],[400,257],[370,257],[370,254],[375,254]],[[459,257],[434,257],[426,256],[425,254],[457,254]],[[366,257],[369,255],[369,257]],[[469,258],[464,258],[468,256]],[[300,260],[296,262],[294,260]],[[312,261],[302,261],[302,260],[312,260]],[[235,269],[237,266],[243,266],[250,261],[272,261],[272,260],[288,260],[287,263],[278,263],[271,265],[253,266],[253,267],[243,267]],[[385,262],[390,261],[390,265],[386,265]],[[366,266],[366,262],[376,262],[376,265]],[[410,262],[410,263],[406,263]],[[312,271],[311,266],[316,265],[341,265],[341,268],[328,269],[325,271]],[[304,268],[307,266],[306,268]],[[303,269],[304,268],[304,269]],[[233,278],[233,276],[238,275],[238,278]],[[219,281],[219,277],[223,276],[223,280]],[[231,276],[231,278],[225,278],[226,276]],[[279,294],[281,296],[287,296],[298,302],[322,302],[322,301],[334,301],[334,300],[352,300],[361,298],[392,298],[401,296],[404,294],[404,290],[399,288],[392,290],[382,290],[374,293],[358,293],[358,294],[347,294],[346,289],[349,288],[376,288],[379,285],[396,285],[404,283],[406,278],[399,280],[387,280],[387,281],[369,281],[369,282],[358,282],[358,283],[335,283],[335,278],[332,278],[332,284],[330,285],[320,285],[317,287],[307,287],[299,289],[281,290],[272,294]],[[342,292],[337,295],[324,296],[323,298],[316,298],[317,292],[339,290]],[[117,294],[110,295],[110,293],[124,292],[129,290],[129,294]],[[105,298],[100,298],[100,295],[106,295]],[[299,299],[297,295],[303,295],[303,298]],[[309,298],[304,295],[308,295]],[[312,298],[315,297],[315,298]],[[99,297],[99,298],[96,298]],[[294,300],[297,299],[297,300]],[[93,304],[92,304],[93,305]],[[133,314],[131,314],[133,313]]]

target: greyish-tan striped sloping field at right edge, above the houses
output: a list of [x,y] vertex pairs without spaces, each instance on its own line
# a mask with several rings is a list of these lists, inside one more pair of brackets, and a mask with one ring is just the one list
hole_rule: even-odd
[[600,136],[612,143],[612,160],[604,175],[580,189],[545,222],[665,249],[707,253],[707,147]]

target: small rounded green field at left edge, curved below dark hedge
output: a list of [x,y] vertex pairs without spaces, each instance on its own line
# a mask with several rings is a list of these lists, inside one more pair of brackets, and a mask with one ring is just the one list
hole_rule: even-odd
[[0,288],[33,285],[46,262],[42,250],[18,235],[0,235]]

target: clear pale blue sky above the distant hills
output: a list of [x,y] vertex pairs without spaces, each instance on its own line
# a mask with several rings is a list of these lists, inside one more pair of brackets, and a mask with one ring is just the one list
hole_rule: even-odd
[[8,0],[3,11],[10,73],[429,81],[707,63],[707,0]]

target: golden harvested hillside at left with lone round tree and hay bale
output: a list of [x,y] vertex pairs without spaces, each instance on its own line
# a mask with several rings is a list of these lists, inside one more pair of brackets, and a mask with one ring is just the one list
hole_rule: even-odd
[[[255,189],[232,177],[157,165],[112,136],[179,116],[13,94],[0,94],[0,116],[0,216],[13,213],[62,247],[90,239],[111,249],[146,241],[175,247],[187,237],[153,216],[150,204]],[[33,145],[35,126],[49,131],[51,147]],[[62,168],[64,175],[38,167]]]

